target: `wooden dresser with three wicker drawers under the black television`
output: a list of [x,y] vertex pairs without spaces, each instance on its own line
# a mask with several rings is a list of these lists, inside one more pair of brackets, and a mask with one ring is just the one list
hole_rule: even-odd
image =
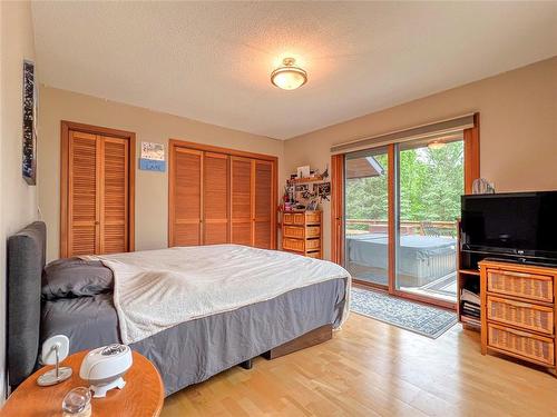
[[482,260],[481,353],[497,351],[556,374],[557,268]]

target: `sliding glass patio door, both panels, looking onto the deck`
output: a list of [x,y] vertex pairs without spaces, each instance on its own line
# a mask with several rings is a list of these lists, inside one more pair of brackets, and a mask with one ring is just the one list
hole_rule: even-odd
[[344,265],[356,281],[451,305],[462,133],[345,155]]

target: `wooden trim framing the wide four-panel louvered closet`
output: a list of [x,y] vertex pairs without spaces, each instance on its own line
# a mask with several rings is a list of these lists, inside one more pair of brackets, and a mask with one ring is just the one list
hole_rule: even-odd
[[[203,151],[203,152],[208,152],[208,153],[221,153],[229,157],[228,159],[228,181],[229,181],[229,199],[232,199],[232,162],[233,159],[247,159],[247,160],[262,160],[262,161],[270,161],[272,162],[272,187],[271,187],[271,196],[272,196],[272,201],[273,201],[273,214],[271,216],[271,248],[276,249],[276,215],[274,212],[274,208],[277,203],[277,187],[278,187],[278,179],[277,179],[277,162],[278,158],[272,155],[264,155],[264,153],[254,153],[254,152],[247,152],[243,150],[237,150],[237,149],[231,149],[231,148],[222,148],[222,147],[216,147],[213,145],[205,145],[205,143],[197,143],[197,142],[190,142],[186,140],[180,140],[180,139],[169,139],[168,140],[168,246],[170,246],[170,242],[173,241],[172,238],[174,237],[174,215],[173,215],[173,207],[174,207],[174,190],[175,190],[175,181],[174,181],[174,153],[176,152],[176,148],[186,148],[190,150],[197,150],[197,151]],[[203,176],[203,172],[202,172]],[[203,178],[202,178],[203,181]],[[229,218],[229,228],[228,228],[228,239],[232,239],[232,201],[228,203],[228,218]],[[252,217],[250,217],[251,219]]]

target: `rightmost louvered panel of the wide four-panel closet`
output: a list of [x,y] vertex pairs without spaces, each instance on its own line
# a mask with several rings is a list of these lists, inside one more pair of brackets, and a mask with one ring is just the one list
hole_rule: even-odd
[[271,217],[274,212],[274,203],[272,200],[273,189],[273,163],[270,161],[254,160],[253,177],[255,181],[254,198],[254,246],[256,248],[271,249]]

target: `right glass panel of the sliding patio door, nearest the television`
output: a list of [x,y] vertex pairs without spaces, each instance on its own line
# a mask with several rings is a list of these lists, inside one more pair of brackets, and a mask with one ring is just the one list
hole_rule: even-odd
[[395,146],[395,289],[455,302],[462,136]]

